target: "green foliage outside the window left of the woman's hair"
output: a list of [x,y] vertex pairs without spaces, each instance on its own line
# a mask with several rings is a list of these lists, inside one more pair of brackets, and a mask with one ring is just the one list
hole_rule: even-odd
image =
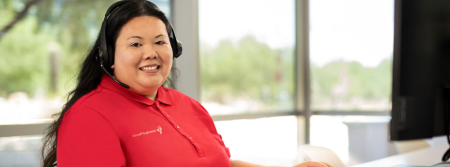
[[[0,1],[0,27],[28,0]],[[98,35],[104,12],[115,0],[44,0],[0,39],[0,97],[12,92],[63,95],[74,86],[77,68]],[[59,46],[57,90],[50,90],[50,44]],[[36,94],[37,93],[37,94]]]

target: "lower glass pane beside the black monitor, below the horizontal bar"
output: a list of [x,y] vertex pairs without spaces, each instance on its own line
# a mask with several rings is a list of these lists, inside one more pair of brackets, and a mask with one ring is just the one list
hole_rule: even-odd
[[[312,116],[311,145],[328,148],[353,166],[397,154],[390,116]],[[330,137],[331,136],[331,137]]]

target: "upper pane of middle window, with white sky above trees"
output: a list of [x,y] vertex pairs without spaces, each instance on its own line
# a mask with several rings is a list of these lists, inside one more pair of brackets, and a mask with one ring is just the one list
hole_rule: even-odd
[[294,107],[293,0],[199,0],[201,103],[212,114]]

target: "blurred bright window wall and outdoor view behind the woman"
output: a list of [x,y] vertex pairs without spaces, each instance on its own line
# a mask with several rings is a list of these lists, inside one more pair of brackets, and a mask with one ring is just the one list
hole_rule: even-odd
[[[0,166],[39,166],[113,2],[0,0]],[[177,89],[205,106],[233,159],[294,165],[304,144],[348,166],[397,154],[394,0],[152,2],[183,42]]]

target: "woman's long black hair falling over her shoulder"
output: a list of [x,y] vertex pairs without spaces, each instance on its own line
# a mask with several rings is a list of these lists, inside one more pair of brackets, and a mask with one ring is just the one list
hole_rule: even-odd
[[[108,16],[108,19],[105,19],[105,27],[107,27],[105,30],[105,36],[107,52],[108,55],[110,55],[109,58],[114,59],[115,43],[119,32],[122,26],[132,18],[139,16],[154,16],[159,18],[166,25],[168,34],[172,31],[172,26],[169,20],[155,4],[146,0],[123,0],[116,2],[111,6],[116,6],[118,3],[122,4],[116,9],[113,9],[114,11]],[[56,165],[56,137],[64,114],[78,99],[97,88],[101,82],[102,76],[104,75],[104,72],[100,67],[100,63],[96,60],[96,56],[99,54],[98,48],[101,44],[101,31],[103,31],[103,29],[100,30],[94,45],[91,46],[86,59],[80,65],[75,89],[68,94],[67,103],[63,106],[60,113],[54,115],[54,117],[56,117],[55,121],[46,130],[46,135],[43,138],[43,146],[41,150],[43,167],[52,167]],[[112,73],[110,66],[105,66],[105,68]],[[176,69],[172,67],[171,80],[166,80],[163,85],[173,87],[173,81],[176,78],[174,70]]]

